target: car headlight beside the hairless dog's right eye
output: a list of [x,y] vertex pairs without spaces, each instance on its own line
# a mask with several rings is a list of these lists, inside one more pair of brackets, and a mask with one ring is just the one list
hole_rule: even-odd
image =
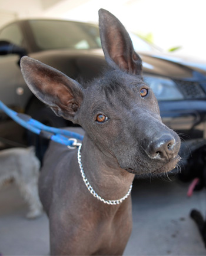
[[169,78],[144,76],[145,83],[154,91],[158,100],[182,100],[184,96]]

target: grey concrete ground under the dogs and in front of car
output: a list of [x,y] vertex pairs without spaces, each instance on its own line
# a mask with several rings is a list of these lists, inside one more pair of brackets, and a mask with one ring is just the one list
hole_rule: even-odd
[[[189,214],[206,213],[206,191],[187,198],[188,184],[178,180],[135,180],[132,189],[133,231],[124,255],[206,255]],[[25,218],[27,206],[15,185],[0,190],[0,252],[3,255],[48,255],[48,219]]]

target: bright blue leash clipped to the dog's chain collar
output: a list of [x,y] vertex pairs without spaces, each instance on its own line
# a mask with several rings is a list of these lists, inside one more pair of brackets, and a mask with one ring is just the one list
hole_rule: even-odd
[[[45,124],[42,124],[35,119],[32,119],[31,116],[28,116],[27,114],[16,113],[14,110],[6,107],[6,105],[2,103],[1,100],[0,110],[4,111],[9,117],[11,117],[11,119],[23,126],[25,129],[28,129],[31,132],[36,133],[40,136],[43,136],[46,139],[54,140],[54,142],[69,146],[71,148],[79,146],[79,143],[77,143],[77,139],[82,140],[84,137],[78,133],[69,132],[68,130],[46,126]],[[68,139],[68,137],[65,136],[72,137],[72,139]]]

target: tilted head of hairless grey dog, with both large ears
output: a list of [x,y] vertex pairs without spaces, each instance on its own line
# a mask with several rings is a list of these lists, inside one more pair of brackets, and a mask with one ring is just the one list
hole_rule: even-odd
[[58,115],[80,124],[102,152],[131,173],[160,173],[178,162],[180,138],[161,122],[157,99],[142,78],[142,61],[128,32],[99,10],[99,31],[109,69],[82,86],[28,57],[21,70],[31,91]]

